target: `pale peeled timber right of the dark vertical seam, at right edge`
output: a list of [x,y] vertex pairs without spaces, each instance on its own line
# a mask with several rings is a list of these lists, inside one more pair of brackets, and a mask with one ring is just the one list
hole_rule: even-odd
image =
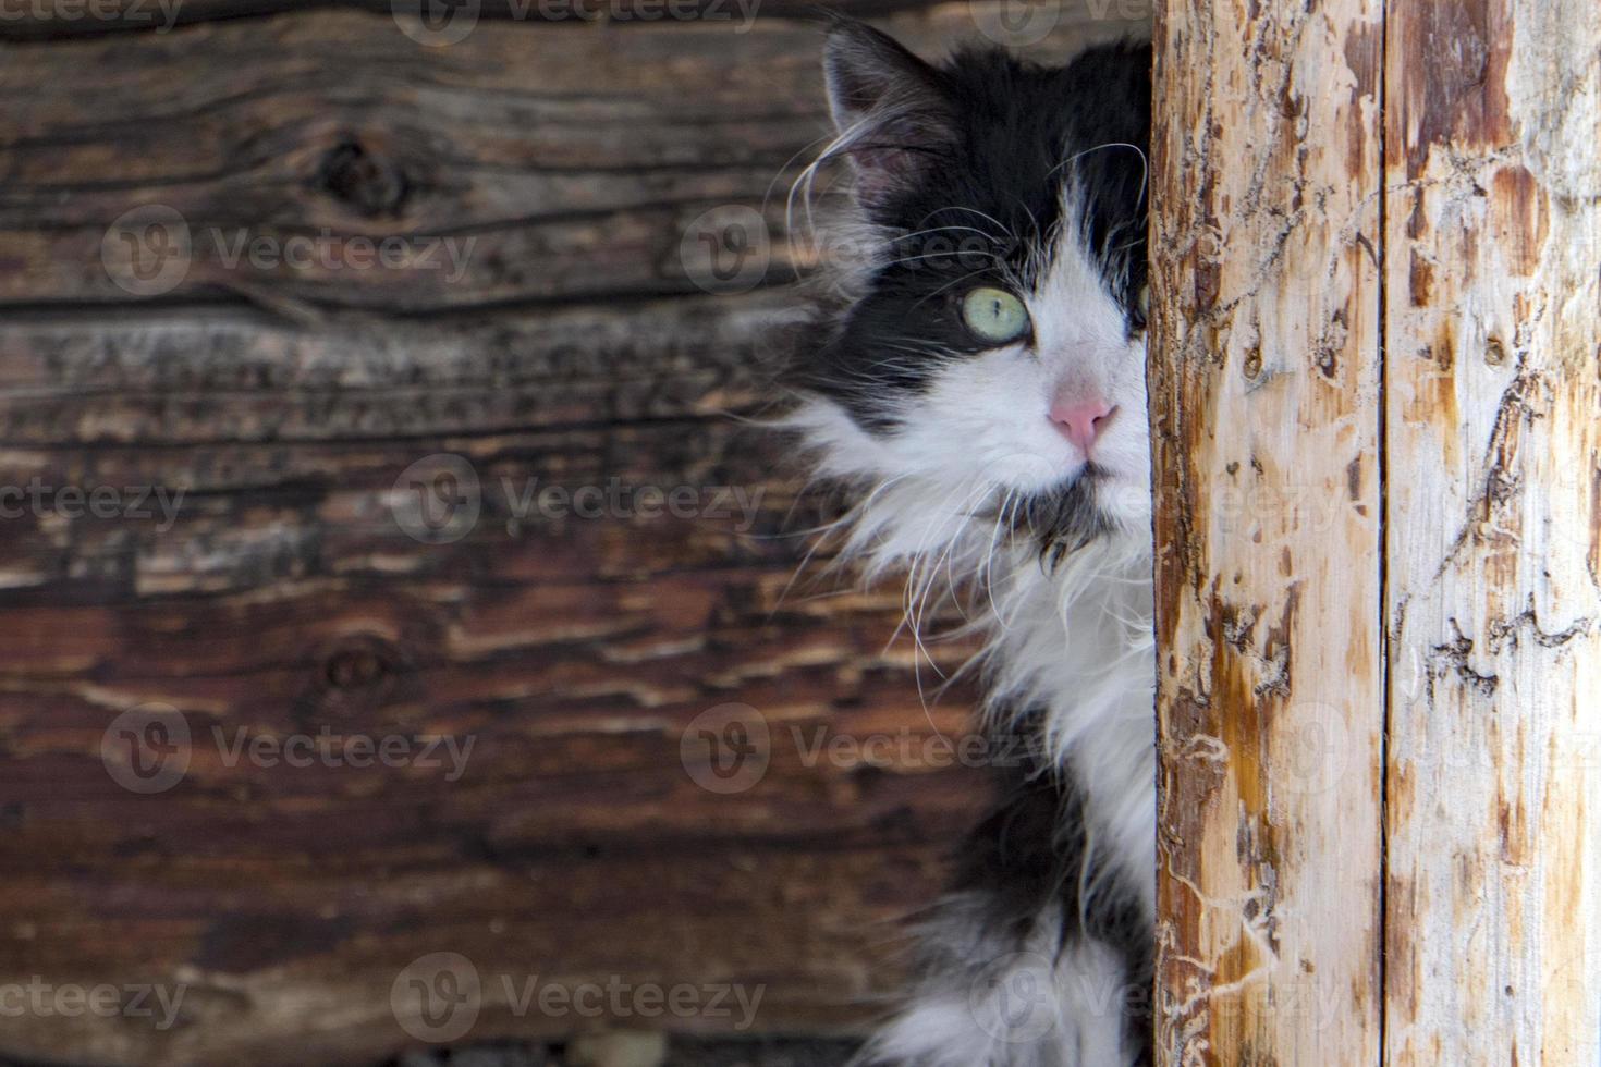
[[1598,56],[1390,5],[1390,1064],[1601,1062]]

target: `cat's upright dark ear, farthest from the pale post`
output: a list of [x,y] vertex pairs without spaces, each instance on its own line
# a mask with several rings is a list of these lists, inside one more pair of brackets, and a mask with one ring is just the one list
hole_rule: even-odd
[[956,114],[940,72],[879,30],[839,19],[823,51],[828,106],[868,210],[914,187],[956,139]]

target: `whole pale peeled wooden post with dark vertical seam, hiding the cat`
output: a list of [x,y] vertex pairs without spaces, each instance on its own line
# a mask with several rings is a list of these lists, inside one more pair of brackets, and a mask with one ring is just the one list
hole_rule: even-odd
[[1601,1062],[1593,24],[1159,8],[1159,1064]]

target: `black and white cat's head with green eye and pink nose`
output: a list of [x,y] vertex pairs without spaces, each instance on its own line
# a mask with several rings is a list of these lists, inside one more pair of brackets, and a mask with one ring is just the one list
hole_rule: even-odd
[[800,368],[825,466],[1066,549],[1148,537],[1150,48],[935,69],[847,22],[826,74],[871,250]]

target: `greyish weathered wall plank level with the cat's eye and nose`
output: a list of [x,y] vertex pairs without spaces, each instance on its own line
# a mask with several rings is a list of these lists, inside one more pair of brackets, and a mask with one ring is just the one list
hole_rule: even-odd
[[600,440],[612,426],[727,422],[767,402],[775,330],[792,309],[792,293],[773,291],[439,320],[338,314],[314,328],[229,307],[13,315],[0,331],[0,442],[287,451],[528,427],[588,427]]

